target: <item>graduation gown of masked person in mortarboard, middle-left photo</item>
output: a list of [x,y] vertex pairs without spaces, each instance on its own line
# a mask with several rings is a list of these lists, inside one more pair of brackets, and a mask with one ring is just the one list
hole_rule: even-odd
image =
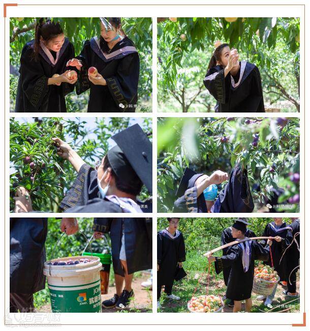
[[[152,212],[151,199],[143,202],[137,200],[136,202],[141,206],[141,211]],[[84,163],[79,170],[72,187],[60,202],[60,208],[70,213],[123,212],[123,209],[119,205],[106,198],[99,198],[97,171],[92,169],[87,163]]]

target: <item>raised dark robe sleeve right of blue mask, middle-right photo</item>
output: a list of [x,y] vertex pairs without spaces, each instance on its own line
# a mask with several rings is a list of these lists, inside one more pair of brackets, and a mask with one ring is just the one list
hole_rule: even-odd
[[254,210],[247,170],[237,164],[230,174],[229,181],[221,190],[211,212],[250,213]]

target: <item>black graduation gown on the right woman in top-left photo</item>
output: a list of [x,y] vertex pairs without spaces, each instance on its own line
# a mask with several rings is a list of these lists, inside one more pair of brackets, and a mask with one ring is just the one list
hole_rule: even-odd
[[[87,112],[135,112],[138,101],[140,60],[134,43],[125,37],[104,54],[98,38],[85,41],[77,57],[83,67],[78,72],[76,93],[90,89]],[[107,81],[94,85],[88,79],[88,68],[96,67]]]

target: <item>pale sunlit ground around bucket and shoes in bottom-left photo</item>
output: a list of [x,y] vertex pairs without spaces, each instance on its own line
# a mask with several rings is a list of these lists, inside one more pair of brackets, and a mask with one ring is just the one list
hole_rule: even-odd
[[[145,289],[141,286],[141,283],[149,278],[150,274],[148,272],[136,272],[132,288],[134,290],[135,296],[130,302],[130,307],[125,310],[113,309],[103,309],[103,313],[151,313],[152,312],[152,291]],[[115,293],[114,277],[110,277],[108,293],[101,295],[101,301],[110,299]],[[37,313],[49,313],[51,312],[50,300],[48,289],[40,291],[35,294],[35,308]]]

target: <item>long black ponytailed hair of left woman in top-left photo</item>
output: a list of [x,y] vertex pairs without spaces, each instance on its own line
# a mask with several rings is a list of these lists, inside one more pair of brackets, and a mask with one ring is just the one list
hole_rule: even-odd
[[49,41],[62,33],[64,32],[59,22],[55,23],[51,19],[41,17],[35,30],[34,58],[38,59],[41,37],[44,41]]

